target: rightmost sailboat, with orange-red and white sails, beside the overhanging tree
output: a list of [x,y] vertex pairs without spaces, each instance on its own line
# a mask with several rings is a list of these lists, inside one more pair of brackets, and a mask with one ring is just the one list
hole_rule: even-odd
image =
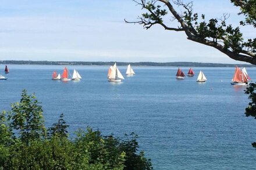
[[234,70],[234,76],[230,84],[232,85],[247,85],[248,80],[246,77],[247,72],[244,73],[239,67],[236,66],[236,70]]

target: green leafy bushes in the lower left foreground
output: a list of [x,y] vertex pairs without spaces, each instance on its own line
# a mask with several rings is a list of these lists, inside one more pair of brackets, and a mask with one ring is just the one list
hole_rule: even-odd
[[0,169],[152,169],[134,133],[121,140],[87,128],[70,140],[63,114],[45,129],[34,94],[24,90],[11,107],[0,113]]

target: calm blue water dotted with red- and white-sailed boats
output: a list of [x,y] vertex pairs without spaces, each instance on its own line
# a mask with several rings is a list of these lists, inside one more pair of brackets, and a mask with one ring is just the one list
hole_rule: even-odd
[[[177,80],[176,67],[133,67],[136,75],[119,84],[107,81],[108,66],[67,68],[83,79],[52,81],[63,66],[9,65],[8,80],[0,81],[0,110],[10,110],[27,89],[42,103],[47,126],[64,113],[72,134],[86,126],[119,137],[136,132],[154,169],[255,169],[256,120],[244,115],[245,88],[230,85],[234,68],[194,67],[208,79],[201,84],[197,76]],[[124,74],[126,67],[119,70]],[[247,72],[256,79],[256,68]]]

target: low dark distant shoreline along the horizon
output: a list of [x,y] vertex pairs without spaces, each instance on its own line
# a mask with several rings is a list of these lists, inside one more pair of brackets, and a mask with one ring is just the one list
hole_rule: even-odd
[[[115,62],[51,62],[30,60],[0,60],[0,64],[31,64],[31,65],[79,65],[79,66],[110,66]],[[170,66],[170,67],[255,67],[253,64],[220,64],[220,63],[197,63],[197,62],[117,62],[118,66]]]

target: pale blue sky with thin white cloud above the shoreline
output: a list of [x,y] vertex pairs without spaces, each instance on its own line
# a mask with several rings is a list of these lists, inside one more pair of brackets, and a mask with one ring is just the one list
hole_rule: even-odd
[[[187,40],[184,32],[125,23],[124,19],[136,21],[143,12],[132,0],[0,0],[0,4],[0,60],[243,63]],[[227,23],[235,26],[240,21],[239,9],[229,0],[194,0],[194,12],[207,19],[227,13]],[[246,38],[256,37],[252,27],[242,31]]]

